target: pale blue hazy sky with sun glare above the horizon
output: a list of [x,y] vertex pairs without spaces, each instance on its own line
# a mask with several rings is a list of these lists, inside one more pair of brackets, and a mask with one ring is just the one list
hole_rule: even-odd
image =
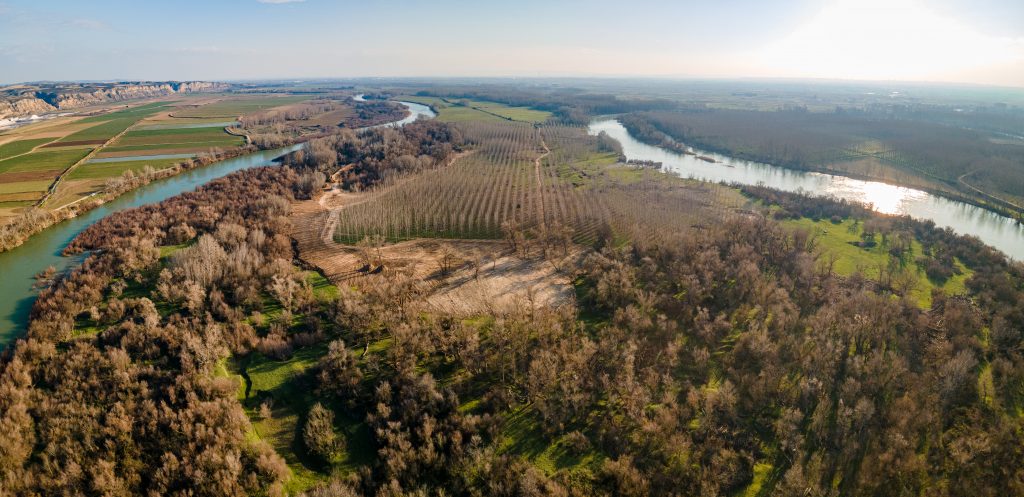
[[0,83],[358,76],[1024,86],[1024,0],[0,0]]

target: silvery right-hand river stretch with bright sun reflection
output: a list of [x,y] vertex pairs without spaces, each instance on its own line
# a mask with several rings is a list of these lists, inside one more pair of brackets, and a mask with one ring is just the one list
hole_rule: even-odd
[[871,204],[879,212],[931,219],[936,224],[951,227],[958,234],[978,237],[1016,260],[1024,260],[1024,226],[1014,219],[971,204],[878,181],[796,171],[694,151],[698,155],[718,161],[713,164],[695,156],[677,154],[643,143],[631,136],[618,121],[610,118],[598,119],[590,124],[591,134],[601,131],[607,132],[623,144],[623,152],[627,158],[660,162],[664,170],[678,173],[683,177],[741,184],[761,183],[786,192],[803,192],[863,202]]

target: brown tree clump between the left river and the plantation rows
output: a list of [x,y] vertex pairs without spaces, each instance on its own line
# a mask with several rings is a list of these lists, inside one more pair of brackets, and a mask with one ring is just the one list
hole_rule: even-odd
[[440,164],[462,146],[454,126],[419,121],[401,127],[342,131],[310,140],[285,164],[324,173],[346,190],[359,191],[388,176],[423,171]]

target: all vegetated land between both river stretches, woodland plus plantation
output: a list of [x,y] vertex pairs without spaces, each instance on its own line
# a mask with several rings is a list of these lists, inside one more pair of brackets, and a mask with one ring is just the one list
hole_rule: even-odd
[[[1024,493],[1020,264],[554,119],[345,130],[83,232],[2,359],[0,493]],[[882,266],[838,268],[812,219]],[[366,267],[309,271],[305,231]],[[410,238],[558,267],[572,298],[446,313],[484,264],[406,272],[382,254]]]

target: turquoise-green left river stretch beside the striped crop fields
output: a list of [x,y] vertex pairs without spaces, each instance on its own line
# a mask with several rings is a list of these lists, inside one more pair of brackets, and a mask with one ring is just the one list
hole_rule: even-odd
[[[388,123],[388,125],[399,126],[420,117],[429,119],[436,116],[427,106],[411,101],[400,103],[406,106],[412,114],[400,121]],[[197,187],[234,171],[270,165],[274,159],[299,150],[301,147],[302,144],[295,144],[257,152],[153,181],[78,217],[54,224],[29,238],[24,245],[0,253],[0,348],[25,334],[29,312],[32,309],[32,303],[36,300],[38,293],[38,289],[34,287],[35,276],[50,265],[57,271],[63,271],[81,261],[80,256],[63,257],[60,252],[83,230],[115,212],[160,202],[169,197],[193,191]]]

